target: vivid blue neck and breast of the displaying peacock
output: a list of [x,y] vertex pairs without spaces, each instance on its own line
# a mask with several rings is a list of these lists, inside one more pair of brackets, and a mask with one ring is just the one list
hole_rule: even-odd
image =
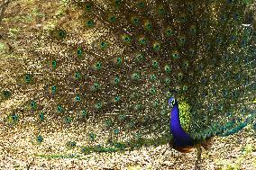
[[193,139],[189,137],[187,132],[183,130],[183,128],[180,125],[178,102],[174,103],[170,111],[169,128],[176,147],[193,146]]

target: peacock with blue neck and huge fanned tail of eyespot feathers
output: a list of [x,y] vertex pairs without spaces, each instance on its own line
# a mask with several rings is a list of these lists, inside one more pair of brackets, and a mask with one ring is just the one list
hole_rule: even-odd
[[[2,101],[5,130],[60,133],[74,152],[203,148],[255,122],[256,33],[248,0],[75,0],[23,42],[31,58]],[[70,134],[73,135],[70,135]],[[56,137],[57,138],[57,137]],[[54,145],[54,144],[51,144]],[[56,144],[59,145],[59,144]]]

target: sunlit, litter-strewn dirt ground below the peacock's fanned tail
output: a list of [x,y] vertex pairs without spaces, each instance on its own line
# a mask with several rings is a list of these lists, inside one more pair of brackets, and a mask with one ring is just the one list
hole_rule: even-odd
[[[52,145],[59,150],[55,155],[49,148],[32,144],[32,129],[13,130],[1,127],[0,169],[193,169],[197,152],[179,154],[164,145],[142,148],[124,153],[82,155],[68,153],[59,146],[61,134],[52,134]],[[256,169],[256,139],[251,126],[227,138],[215,138],[210,150],[203,150],[202,169],[254,170]],[[44,149],[44,155],[38,155]],[[167,150],[166,150],[167,149]],[[166,150],[166,152],[165,152]],[[78,151],[78,150],[77,150]]]

